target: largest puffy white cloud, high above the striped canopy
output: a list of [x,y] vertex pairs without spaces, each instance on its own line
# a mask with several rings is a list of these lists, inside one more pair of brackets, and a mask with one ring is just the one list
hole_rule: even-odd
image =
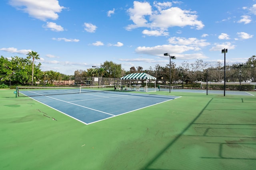
[[[204,27],[202,21],[197,20],[198,16],[194,11],[182,10],[178,7],[170,8],[172,6],[170,2],[154,2],[154,6],[157,10],[152,10],[152,6],[148,2],[134,1],[133,8],[128,9],[130,20],[134,24],[128,25],[126,29],[132,30],[138,27],[149,27],[152,30],[166,30],[168,27],[185,27],[188,25],[196,27],[196,29]],[[163,8],[168,9],[162,10]]]

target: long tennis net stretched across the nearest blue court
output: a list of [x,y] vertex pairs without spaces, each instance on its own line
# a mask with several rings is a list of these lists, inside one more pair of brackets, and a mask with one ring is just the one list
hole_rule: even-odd
[[114,91],[114,85],[106,86],[75,86],[75,87],[38,87],[18,86],[18,96],[50,96],[59,94],[78,94],[92,92]]

